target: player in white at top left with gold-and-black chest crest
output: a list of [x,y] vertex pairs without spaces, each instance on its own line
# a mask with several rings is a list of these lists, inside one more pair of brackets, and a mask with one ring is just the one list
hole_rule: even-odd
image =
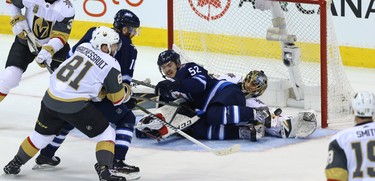
[[[52,70],[65,60],[74,19],[74,8],[69,0],[6,0],[6,6],[16,38],[5,70],[0,73],[0,101],[18,86],[23,72],[34,58],[41,67],[48,64]],[[35,46],[39,53],[33,49]]]

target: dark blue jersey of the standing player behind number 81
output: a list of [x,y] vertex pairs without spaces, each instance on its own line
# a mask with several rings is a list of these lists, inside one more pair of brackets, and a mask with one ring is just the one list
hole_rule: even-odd
[[[72,49],[70,50],[71,52],[69,52],[69,55],[72,55],[74,53],[78,45],[85,42],[90,42],[92,38],[92,32],[95,29],[96,27],[90,28],[86,32],[86,34],[78,41],[78,43],[72,47]],[[119,35],[122,41],[122,45],[120,50],[116,53],[115,58],[120,63],[122,82],[130,84],[130,82],[133,79],[134,66],[135,61],[137,60],[138,51],[129,37],[121,33],[119,33]]]

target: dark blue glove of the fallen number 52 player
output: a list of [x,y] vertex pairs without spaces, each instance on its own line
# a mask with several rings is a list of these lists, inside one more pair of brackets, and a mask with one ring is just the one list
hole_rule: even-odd
[[170,80],[160,81],[155,87],[155,94],[159,95],[165,101],[174,101],[176,98],[172,96],[172,92],[178,90],[176,82]]

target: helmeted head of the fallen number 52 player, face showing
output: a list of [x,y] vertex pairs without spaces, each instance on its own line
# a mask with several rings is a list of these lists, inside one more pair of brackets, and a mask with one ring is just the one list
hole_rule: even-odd
[[[177,67],[170,65],[170,62],[174,62]],[[159,71],[164,78],[173,78],[177,73],[177,69],[181,65],[180,55],[174,50],[165,50],[159,54],[157,64]]]

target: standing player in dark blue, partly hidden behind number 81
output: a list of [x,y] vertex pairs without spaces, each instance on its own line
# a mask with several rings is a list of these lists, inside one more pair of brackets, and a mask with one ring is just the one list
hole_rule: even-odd
[[[140,21],[137,15],[130,10],[121,9],[114,17],[113,26],[120,32],[122,41],[120,50],[116,53],[115,58],[121,67],[122,82],[129,85],[132,81],[134,64],[137,59],[137,49],[132,44],[131,39],[139,34]],[[69,53],[73,54],[80,44],[89,42],[95,29],[96,27],[90,28],[81,40],[72,47]],[[140,169],[124,162],[133,138],[135,116],[130,109],[134,108],[135,100],[131,99],[126,104],[114,106],[109,99],[104,98],[101,102],[94,102],[93,105],[104,114],[109,122],[116,125],[114,168],[125,173],[128,179],[137,178],[138,174],[136,173]],[[60,158],[54,156],[55,152],[72,129],[72,126],[66,125],[60,135],[41,150],[40,155],[35,160],[37,163],[35,168],[46,165],[56,166],[60,163]]]

